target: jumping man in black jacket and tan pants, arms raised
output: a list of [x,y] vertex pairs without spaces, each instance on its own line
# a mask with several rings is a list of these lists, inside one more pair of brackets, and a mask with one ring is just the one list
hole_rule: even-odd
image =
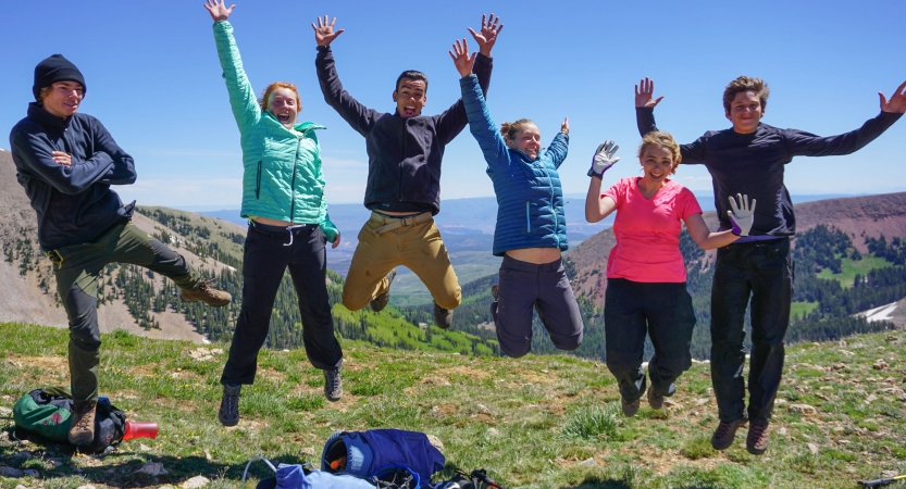
[[[343,29],[336,22],[318,18],[318,79],[324,100],[365,138],[368,150],[368,187],[364,205],[371,218],[359,231],[359,244],[352,255],[343,287],[343,304],[358,311],[371,303],[380,311],[389,301],[395,267],[410,268],[425,284],[434,298],[434,319],[448,328],[452,309],[461,300],[459,283],[450,258],[434,225],[440,212],[440,161],[444,147],[468,124],[462,100],[457,100],[439,115],[422,116],[427,101],[427,77],[406,71],[397,78],[393,92],[396,112],[368,109],[344,90],[334,66],[331,42]],[[474,72],[487,93],[491,82],[491,49],[504,28],[499,17],[482,17],[482,29],[469,32],[479,43]]]

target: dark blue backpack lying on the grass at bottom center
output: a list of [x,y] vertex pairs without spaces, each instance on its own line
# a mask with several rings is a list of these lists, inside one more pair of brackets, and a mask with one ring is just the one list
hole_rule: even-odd
[[444,464],[444,454],[425,434],[402,429],[338,431],[327,439],[321,455],[323,472],[368,480],[377,476],[390,485],[412,489],[430,484],[431,476]]

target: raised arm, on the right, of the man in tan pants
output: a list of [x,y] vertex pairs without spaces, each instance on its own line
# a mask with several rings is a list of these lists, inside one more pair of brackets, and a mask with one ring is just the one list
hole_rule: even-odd
[[[479,54],[474,58],[472,70],[479,78],[479,86],[484,97],[487,97],[487,89],[491,86],[491,71],[494,67],[491,50],[497,43],[497,36],[504,29],[504,24],[499,22],[500,17],[494,14],[491,14],[489,18],[486,15],[482,15],[481,32],[475,33],[469,27],[469,33],[479,45]],[[462,131],[468,122],[469,120],[466,115],[462,99],[459,99],[444,113],[435,116],[437,136],[444,145],[447,145]]]

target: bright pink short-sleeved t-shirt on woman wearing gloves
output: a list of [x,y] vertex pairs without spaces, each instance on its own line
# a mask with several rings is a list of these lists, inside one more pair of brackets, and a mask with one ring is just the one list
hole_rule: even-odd
[[607,189],[601,199],[617,202],[613,235],[617,246],[607,259],[607,278],[642,283],[686,281],[680,253],[682,221],[700,214],[695,196],[680,184],[667,180],[651,199],[638,189],[641,177],[623,178]]

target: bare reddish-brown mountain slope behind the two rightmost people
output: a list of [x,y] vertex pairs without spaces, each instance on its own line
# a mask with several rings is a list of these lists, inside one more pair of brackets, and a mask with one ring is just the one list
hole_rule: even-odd
[[[865,237],[906,236],[906,192],[806,202],[795,205],[795,212],[798,231],[819,224],[834,226],[848,234],[853,243],[864,253],[868,251]],[[713,212],[706,212],[704,216],[710,229],[718,228]],[[573,289],[579,294],[592,298],[598,305],[604,303],[607,255],[616,243],[613,230],[606,229],[567,253],[576,268]],[[709,254],[713,256],[713,252]]]

